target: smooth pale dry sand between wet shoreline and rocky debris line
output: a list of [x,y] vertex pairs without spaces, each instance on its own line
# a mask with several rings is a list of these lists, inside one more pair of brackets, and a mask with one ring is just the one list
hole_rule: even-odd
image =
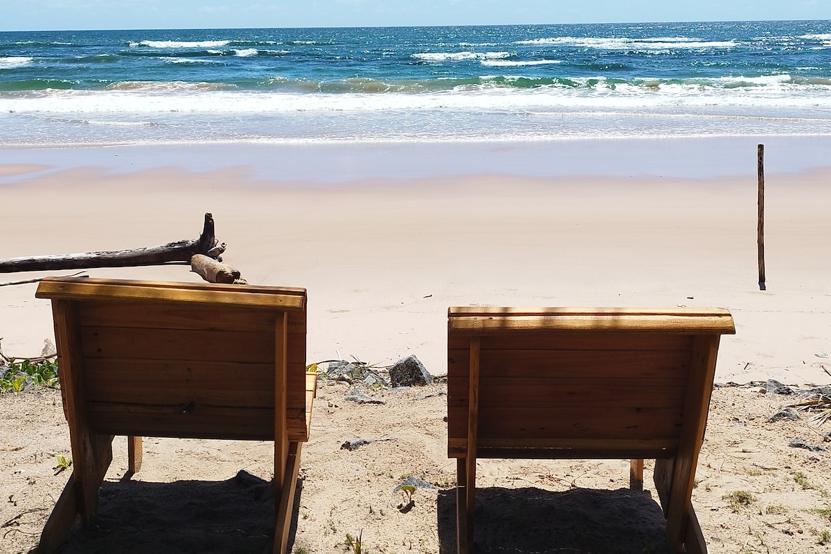
[[[37,150],[22,152],[17,164],[0,165],[13,177],[0,184],[0,233],[12,238],[2,257],[195,238],[211,212],[229,244],[225,260],[248,282],[308,288],[310,363],[389,364],[414,354],[442,374],[449,306],[720,306],[733,312],[737,335],[723,341],[717,380],[828,380],[820,356],[831,327],[831,169],[769,174],[768,290],[760,292],[750,176],[611,178],[597,175],[604,162],[582,175],[413,177],[398,168],[327,184],[262,179],[262,167],[246,164],[194,171],[187,149],[167,150],[170,164],[151,157],[155,167],[118,171],[75,151],[74,167],[44,172],[24,166]],[[327,167],[319,159],[310,174]],[[87,273],[199,281],[188,270]],[[48,302],[34,298],[35,287],[0,287],[7,354],[37,355],[51,338]]]

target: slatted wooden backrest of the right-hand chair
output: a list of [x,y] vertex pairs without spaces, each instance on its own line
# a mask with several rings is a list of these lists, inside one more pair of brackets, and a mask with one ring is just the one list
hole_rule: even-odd
[[472,340],[479,458],[669,458],[696,337],[732,332],[723,310],[451,308],[449,455],[467,449]]

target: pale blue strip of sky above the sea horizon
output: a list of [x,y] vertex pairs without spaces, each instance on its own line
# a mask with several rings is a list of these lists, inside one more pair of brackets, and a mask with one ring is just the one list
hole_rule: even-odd
[[831,19],[831,0],[0,0],[0,31]]

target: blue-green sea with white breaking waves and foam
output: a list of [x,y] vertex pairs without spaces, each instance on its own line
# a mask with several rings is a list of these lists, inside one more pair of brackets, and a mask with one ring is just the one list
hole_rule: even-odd
[[0,32],[0,146],[831,136],[831,22]]

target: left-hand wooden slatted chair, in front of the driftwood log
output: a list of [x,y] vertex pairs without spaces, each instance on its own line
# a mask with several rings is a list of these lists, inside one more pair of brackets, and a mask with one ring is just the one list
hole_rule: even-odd
[[274,441],[274,552],[286,552],[300,446],[316,375],[306,367],[306,291],[175,282],[47,278],[73,471],[42,532],[54,552],[91,522],[128,436]]

